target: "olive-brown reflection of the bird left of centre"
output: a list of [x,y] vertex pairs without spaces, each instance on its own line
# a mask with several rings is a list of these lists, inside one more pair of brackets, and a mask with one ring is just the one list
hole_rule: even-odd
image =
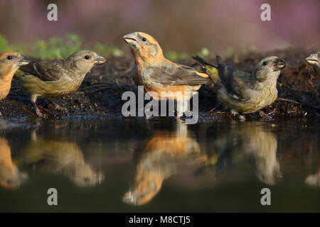
[[23,162],[36,170],[68,177],[79,187],[95,186],[104,178],[85,162],[78,143],[41,138],[36,131],[23,149]]

